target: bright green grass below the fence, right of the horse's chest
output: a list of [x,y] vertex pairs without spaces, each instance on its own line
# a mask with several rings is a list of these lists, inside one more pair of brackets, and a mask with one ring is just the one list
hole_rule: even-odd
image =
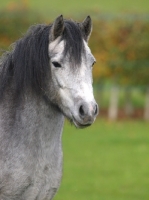
[[63,133],[64,173],[54,200],[148,200],[149,124],[96,121]]

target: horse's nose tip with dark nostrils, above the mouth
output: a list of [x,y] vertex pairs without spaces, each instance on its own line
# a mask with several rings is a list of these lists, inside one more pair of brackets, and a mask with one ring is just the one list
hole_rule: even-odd
[[79,117],[86,123],[92,122],[98,114],[97,103],[82,103],[79,107]]

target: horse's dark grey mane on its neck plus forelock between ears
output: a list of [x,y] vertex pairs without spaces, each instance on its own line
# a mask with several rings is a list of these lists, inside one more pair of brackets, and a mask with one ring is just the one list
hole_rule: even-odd
[[[64,23],[61,37],[65,41],[64,56],[68,54],[76,66],[81,62],[84,50],[83,36],[77,23],[69,20]],[[52,24],[32,26],[24,37],[14,43],[12,51],[1,57],[0,99],[12,83],[16,96],[28,88],[39,94],[45,87],[50,74],[48,45],[51,27]]]

